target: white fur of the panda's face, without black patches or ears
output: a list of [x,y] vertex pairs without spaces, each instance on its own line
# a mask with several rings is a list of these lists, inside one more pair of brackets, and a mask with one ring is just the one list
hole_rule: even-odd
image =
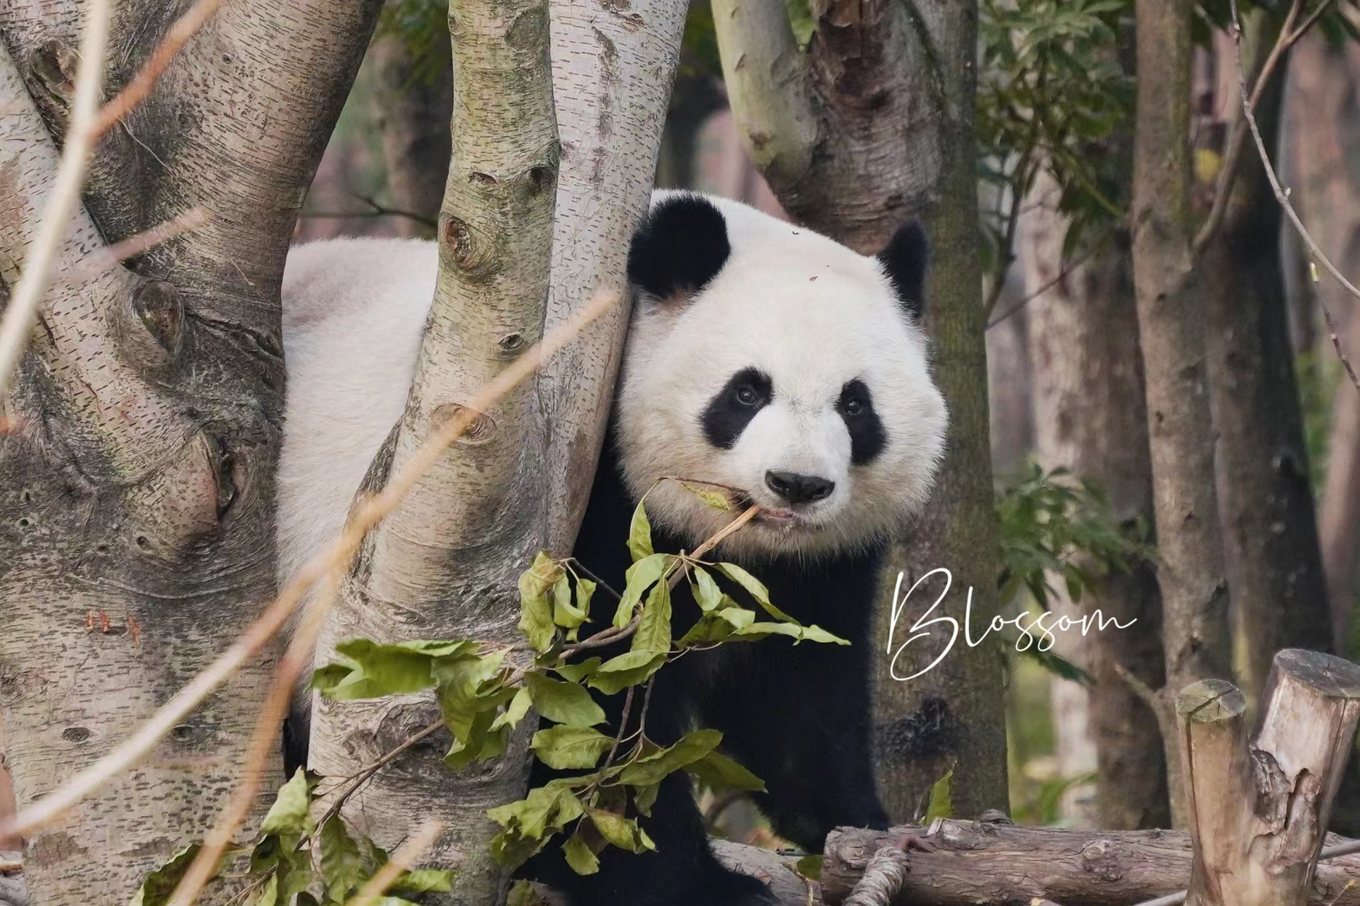
[[[656,192],[653,205],[676,192]],[[707,197],[722,212],[732,252],[688,303],[642,299],[619,385],[620,463],[634,497],[661,476],[743,488],[771,510],[768,471],[816,475],[835,490],[787,518],[756,520],[725,543],[744,555],[839,552],[876,540],[917,511],[944,446],[945,405],[928,373],[926,339],[872,257],[745,204]],[[700,415],[736,371],[772,380],[730,450],[703,435]],[[840,388],[862,380],[888,442],[851,465],[836,412]],[[675,482],[647,497],[653,522],[692,543],[732,518]]]

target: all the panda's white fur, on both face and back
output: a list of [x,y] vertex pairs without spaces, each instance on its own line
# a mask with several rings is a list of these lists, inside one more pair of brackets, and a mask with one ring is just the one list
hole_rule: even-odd
[[[651,203],[675,195],[656,192]],[[729,537],[732,554],[817,555],[880,539],[921,507],[944,445],[945,405],[923,332],[879,260],[745,204],[706,199],[726,220],[726,264],[685,303],[643,298],[632,318],[617,422],[630,490],[639,497],[661,476],[715,482],[782,516]],[[332,239],[288,254],[282,575],[339,533],[400,418],[437,273],[435,245],[416,239]],[[771,377],[774,399],[730,450],[714,448],[700,414],[749,366]],[[870,388],[887,431],[885,449],[865,465],[851,465],[835,408],[854,378]],[[781,469],[823,476],[835,490],[786,510],[764,483]],[[673,482],[651,490],[647,510],[695,544],[730,518]]]

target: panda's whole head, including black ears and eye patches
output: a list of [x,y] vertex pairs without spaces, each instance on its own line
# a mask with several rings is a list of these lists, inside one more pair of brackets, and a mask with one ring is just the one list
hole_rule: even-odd
[[658,192],[634,238],[638,294],[619,454],[647,514],[691,544],[732,520],[676,482],[741,488],[762,514],[730,552],[800,556],[884,537],[926,501],[945,405],[918,326],[926,241],[874,257],[734,201]]

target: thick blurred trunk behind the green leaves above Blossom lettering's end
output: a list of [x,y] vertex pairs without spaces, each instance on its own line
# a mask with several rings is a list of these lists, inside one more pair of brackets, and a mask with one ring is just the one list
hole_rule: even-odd
[[[1047,190],[1046,180],[1035,193]],[[1027,287],[1051,284],[1028,305],[1038,454],[1047,469],[1062,467],[1096,482],[1112,516],[1132,531],[1140,521],[1152,522],[1152,467],[1129,238],[1118,231],[1107,248],[1058,279],[1068,267],[1065,233],[1066,219],[1049,208],[1036,208],[1021,231]],[[1118,673],[1127,669],[1151,688],[1164,680],[1152,565],[1137,562],[1129,573],[1103,577],[1084,590],[1076,609],[1100,611],[1127,626],[1064,634],[1069,654],[1095,686],[1054,680],[1061,694],[1087,701],[1085,726],[1069,732],[1095,745],[1096,826],[1164,827],[1170,815],[1157,720]],[[1057,731],[1061,740],[1064,726]]]

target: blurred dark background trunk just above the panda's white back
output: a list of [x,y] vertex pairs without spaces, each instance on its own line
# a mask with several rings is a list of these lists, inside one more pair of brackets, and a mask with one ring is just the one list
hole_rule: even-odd
[[[396,35],[384,35],[369,50],[373,61],[370,105],[382,136],[388,189],[401,211],[434,220],[449,175],[449,114],[453,109],[453,58],[447,39],[434,42],[430,60],[416,60]],[[397,235],[420,237],[430,227],[413,218],[394,218]]]

